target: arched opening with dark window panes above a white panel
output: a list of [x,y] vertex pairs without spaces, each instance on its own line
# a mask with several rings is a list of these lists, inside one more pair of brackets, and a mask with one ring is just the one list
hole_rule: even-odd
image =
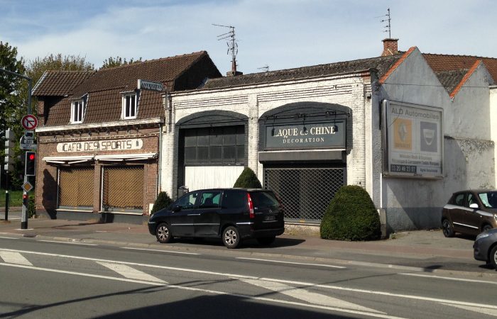
[[248,120],[236,112],[204,111],[178,121],[178,188],[232,187],[247,165]]

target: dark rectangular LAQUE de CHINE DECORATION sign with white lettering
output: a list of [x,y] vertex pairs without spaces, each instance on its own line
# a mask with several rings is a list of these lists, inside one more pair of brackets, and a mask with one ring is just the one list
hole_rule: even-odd
[[345,122],[266,126],[266,148],[345,148]]

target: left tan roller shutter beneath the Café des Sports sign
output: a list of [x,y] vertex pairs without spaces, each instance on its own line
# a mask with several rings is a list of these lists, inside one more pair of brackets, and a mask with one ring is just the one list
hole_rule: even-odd
[[59,169],[59,208],[93,208],[93,167]]

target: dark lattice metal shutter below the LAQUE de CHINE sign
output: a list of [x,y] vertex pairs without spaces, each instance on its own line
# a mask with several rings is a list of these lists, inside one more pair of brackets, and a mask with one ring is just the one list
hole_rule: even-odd
[[264,169],[264,187],[278,194],[285,206],[285,219],[290,220],[321,220],[345,182],[345,168]]

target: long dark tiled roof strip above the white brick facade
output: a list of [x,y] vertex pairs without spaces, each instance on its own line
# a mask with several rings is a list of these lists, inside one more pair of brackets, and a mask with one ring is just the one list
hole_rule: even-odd
[[378,77],[385,74],[388,69],[402,55],[389,55],[386,57],[373,57],[370,59],[352,60],[346,62],[337,62],[327,65],[315,65],[312,67],[298,67],[295,69],[283,69],[271,72],[261,72],[234,77],[222,77],[209,79],[202,89],[215,89],[229,86],[242,86],[250,84],[271,83],[282,80],[305,79],[309,77],[319,77],[335,74],[346,74],[352,72],[361,72],[368,69],[377,69]]

